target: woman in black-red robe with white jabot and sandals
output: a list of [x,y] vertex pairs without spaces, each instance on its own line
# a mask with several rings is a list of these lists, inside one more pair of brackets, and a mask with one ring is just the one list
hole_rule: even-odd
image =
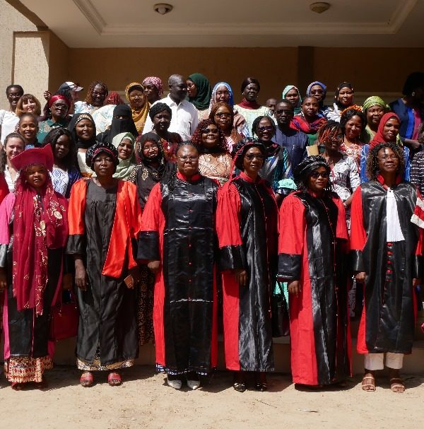
[[367,392],[375,391],[375,371],[384,368],[384,353],[391,390],[404,392],[399,370],[404,354],[412,351],[423,230],[411,222],[418,191],[402,180],[404,165],[402,148],[379,143],[367,158],[370,182],[353,194],[353,270],[365,282],[357,348],[365,355],[362,388]]

